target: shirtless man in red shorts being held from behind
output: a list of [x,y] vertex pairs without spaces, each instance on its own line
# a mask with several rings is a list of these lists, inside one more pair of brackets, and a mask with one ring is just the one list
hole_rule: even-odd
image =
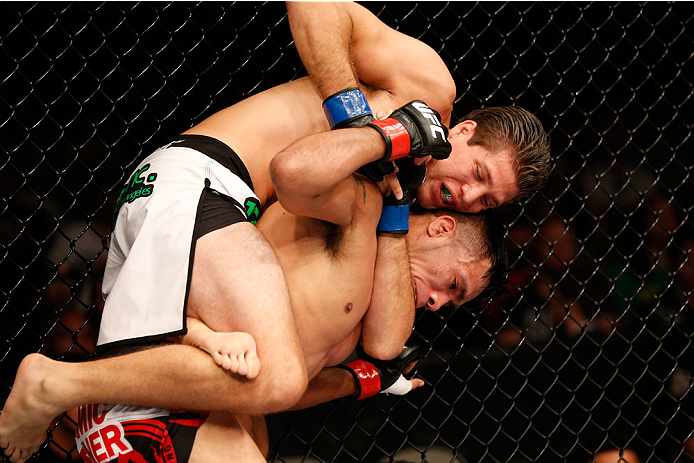
[[[272,161],[279,202],[264,212],[258,228],[284,271],[309,379],[316,378],[325,366],[345,360],[361,339],[362,319],[371,310],[377,229],[385,233],[409,229],[405,237],[418,307],[427,305],[430,298],[437,300],[436,306],[429,305],[431,310],[463,304],[495,281],[497,270],[506,271],[504,265],[492,271],[492,262],[505,262],[496,254],[499,249],[503,254],[504,228],[498,226],[488,236],[487,216],[427,211],[413,214],[409,220],[390,220],[381,214],[383,200],[376,186],[352,174],[361,165],[383,157],[391,142],[409,144],[410,155],[417,146],[422,155],[450,149],[445,137],[428,135],[427,110],[426,105],[415,102],[393,113],[389,120],[402,123],[409,134],[406,140],[382,135],[370,125],[310,135]],[[388,331],[388,326],[382,329]],[[381,390],[380,379],[369,374],[375,368],[363,362],[348,368],[361,379],[361,397]],[[351,377],[347,374],[348,380]],[[312,386],[309,389],[324,389],[315,383]],[[337,393],[310,391],[299,406],[306,401],[313,405],[315,394],[321,392]],[[159,461],[151,441],[137,446],[143,440],[138,433],[168,410],[113,405],[82,410],[90,407],[91,420],[89,413],[82,413],[78,431],[80,455],[86,462],[116,455],[129,461]],[[256,422],[255,434],[258,426]],[[179,445],[178,436],[162,435],[177,452],[177,461],[264,461],[262,451],[250,445],[250,434],[227,412],[212,413],[191,434],[192,448],[189,442]],[[171,441],[166,440],[169,435]]]

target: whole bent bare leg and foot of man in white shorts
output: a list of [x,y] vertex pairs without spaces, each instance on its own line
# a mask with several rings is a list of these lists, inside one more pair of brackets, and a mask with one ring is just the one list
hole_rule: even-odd
[[0,446],[12,461],[38,449],[55,416],[86,403],[258,414],[295,403],[307,385],[303,354],[284,275],[260,232],[237,223],[200,238],[191,286],[189,315],[216,331],[254,337],[262,363],[256,379],[229,374],[206,353],[182,345],[85,363],[31,355],[0,415]]

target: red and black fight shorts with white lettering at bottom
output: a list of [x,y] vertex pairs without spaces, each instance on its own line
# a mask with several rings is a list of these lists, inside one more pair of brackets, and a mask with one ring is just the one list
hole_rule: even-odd
[[85,463],[184,463],[190,458],[195,435],[207,415],[185,410],[83,405],[79,408],[75,435],[77,449]]

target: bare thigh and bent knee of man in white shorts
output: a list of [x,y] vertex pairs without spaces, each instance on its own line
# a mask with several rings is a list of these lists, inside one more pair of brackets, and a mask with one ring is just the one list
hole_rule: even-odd
[[[303,395],[308,379],[284,274],[253,225],[236,223],[198,239],[188,315],[214,331],[242,331],[255,339],[262,368],[252,387],[243,389],[241,402],[270,413]],[[239,393],[237,383],[226,386],[224,394]]]

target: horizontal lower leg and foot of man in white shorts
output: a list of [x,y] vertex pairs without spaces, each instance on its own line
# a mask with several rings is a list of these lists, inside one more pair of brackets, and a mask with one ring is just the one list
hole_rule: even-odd
[[[198,383],[188,383],[192,378]],[[238,378],[205,352],[177,344],[82,363],[31,354],[20,364],[0,414],[0,447],[10,461],[26,461],[55,417],[87,403],[224,409],[229,397],[218,388]]]

